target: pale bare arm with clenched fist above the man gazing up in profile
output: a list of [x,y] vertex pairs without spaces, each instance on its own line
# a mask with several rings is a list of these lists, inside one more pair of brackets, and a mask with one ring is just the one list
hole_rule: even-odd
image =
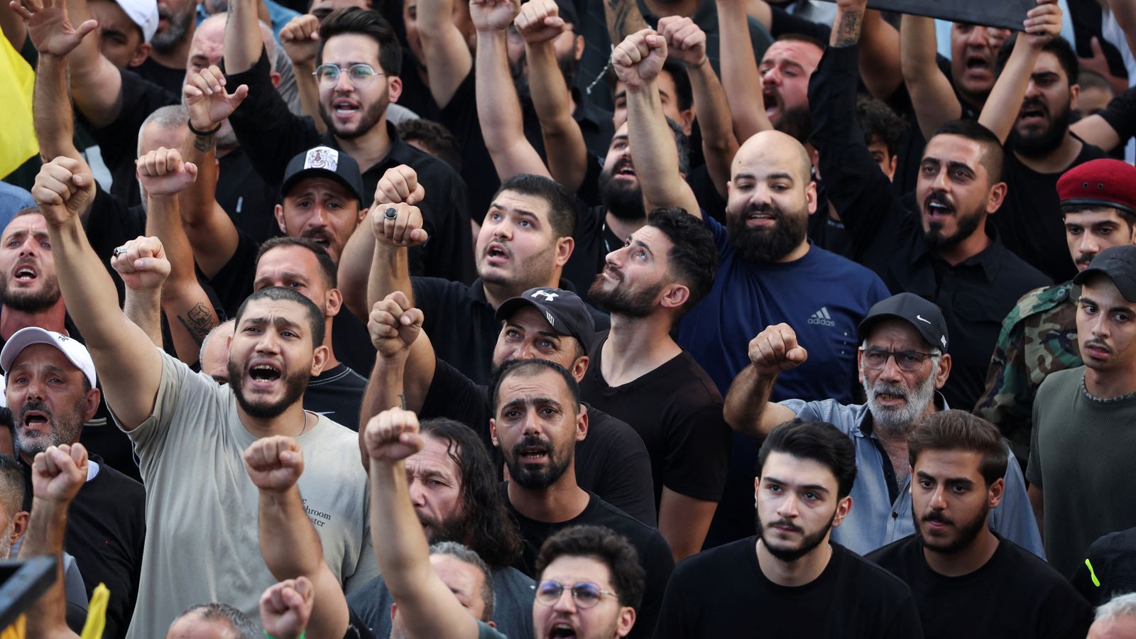
[[611,52],[611,66],[627,88],[627,135],[648,210],[680,207],[702,217],[694,191],[678,172],[678,147],[662,115],[655,78],[667,59],[667,40],[651,30],[633,33]]

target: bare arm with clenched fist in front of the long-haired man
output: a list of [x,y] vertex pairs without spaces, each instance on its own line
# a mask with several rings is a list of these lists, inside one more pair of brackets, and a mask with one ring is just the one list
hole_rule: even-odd
[[410,501],[406,458],[421,450],[418,417],[383,412],[360,429],[370,458],[370,534],[375,557],[399,614],[414,637],[475,639],[466,612],[429,562],[429,545]]

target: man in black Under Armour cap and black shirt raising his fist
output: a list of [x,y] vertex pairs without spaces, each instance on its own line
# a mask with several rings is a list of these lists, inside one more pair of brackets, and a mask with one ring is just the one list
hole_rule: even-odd
[[[490,388],[477,384],[434,354],[424,334],[399,332],[403,317],[420,310],[402,306],[406,296],[394,292],[375,305],[371,339],[378,349],[368,381],[364,420],[383,408],[404,403],[424,418],[448,417],[468,425],[490,450],[493,405]],[[592,316],[579,297],[562,289],[537,288],[506,300],[496,313],[501,332],[493,352],[500,371],[510,362],[546,359],[571,372],[578,382],[588,366],[586,337],[594,332]],[[401,396],[401,401],[399,397]],[[626,423],[588,406],[587,438],[576,443],[576,481],[584,490],[636,520],[655,525],[651,460],[643,440]],[[495,456],[498,468],[501,456]]]

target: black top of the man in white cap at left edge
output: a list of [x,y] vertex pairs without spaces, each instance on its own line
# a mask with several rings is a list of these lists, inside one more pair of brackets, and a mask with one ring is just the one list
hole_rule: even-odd
[[[75,557],[87,596],[100,582],[110,589],[103,637],[119,639],[134,614],[142,548],[145,540],[145,489],[133,479],[99,464],[99,474],[83,484],[67,516],[64,550]],[[24,465],[26,498],[31,500],[32,468]]]

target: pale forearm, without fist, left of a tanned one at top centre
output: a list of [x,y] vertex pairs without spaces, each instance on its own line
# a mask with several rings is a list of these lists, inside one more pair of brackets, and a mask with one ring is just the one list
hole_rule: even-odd
[[485,148],[501,180],[518,173],[548,176],[548,169],[525,138],[520,100],[509,73],[504,31],[477,32],[477,118]]

